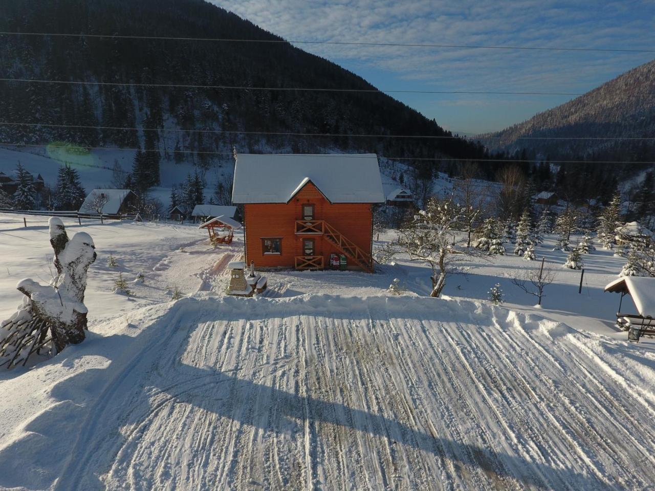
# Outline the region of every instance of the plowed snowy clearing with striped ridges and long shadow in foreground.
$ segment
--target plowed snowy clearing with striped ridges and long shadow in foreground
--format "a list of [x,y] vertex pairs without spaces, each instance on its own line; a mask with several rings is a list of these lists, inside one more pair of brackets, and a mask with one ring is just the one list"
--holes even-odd
[[[21,375],[61,381],[48,410],[0,440],[0,486],[655,482],[655,359],[626,342],[419,297],[182,299],[130,322]],[[28,445],[42,450],[26,463]],[[58,458],[37,462],[48,448]],[[40,474],[28,478],[19,464]]]

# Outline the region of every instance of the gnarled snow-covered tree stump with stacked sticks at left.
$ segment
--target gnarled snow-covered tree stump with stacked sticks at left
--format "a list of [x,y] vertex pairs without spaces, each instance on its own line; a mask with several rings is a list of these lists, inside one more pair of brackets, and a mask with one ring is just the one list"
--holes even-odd
[[11,368],[33,354],[57,354],[86,336],[86,271],[96,261],[92,238],[78,232],[68,239],[61,219],[50,218],[50,245],[56,276],[50,285],[31,279],[16,288],[25,297],[16,312],[0,323],[0,367]]

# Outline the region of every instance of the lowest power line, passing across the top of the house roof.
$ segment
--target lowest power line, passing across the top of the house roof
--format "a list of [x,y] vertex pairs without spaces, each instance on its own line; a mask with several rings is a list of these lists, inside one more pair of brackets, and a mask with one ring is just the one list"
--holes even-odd
[[[0,141],[0,145],[9,145],[14,147],[47,147],[48,145],[37,144],[37,143],[11,143],[9,141]],[[61,148],[66,148],[65,145],[58,145]],[[78,145],[71,145],[78,146]],[[86,147],[84,145],[79,145],[88,150],[119,150],[126,152],[162,152],[159,149],[134,149],[134,148],[119,148],[119,147]],[[233,156],[233,152],[209,152],[209,151],[196,151],[196,150],[166,150],[164,153],[190,153],[194,155],[230,155]],[[259,154],[259,155],[280,155],[280,154]],[[305,153],[288,153],[284,154],[291,157],[302,157],[305,155],[320,156],[320,157],[335,157],[341,154],[329,154],[329,153],[318,153],[318,154],[305,154]],[[464,162],[466,160],[471,162],[521,162],[515,158],[442,158],[442,157],[408,157],[408,156],[385,156],[378,155],[379,158],[384,158],[386,160],[416,160],[423,162]],[[348,155],[348,158],[369,158],[366,155]],[[630,160],[548,160],[551,164],[654,164],[655,162],[644,162],[644,161],[630,161]]]

